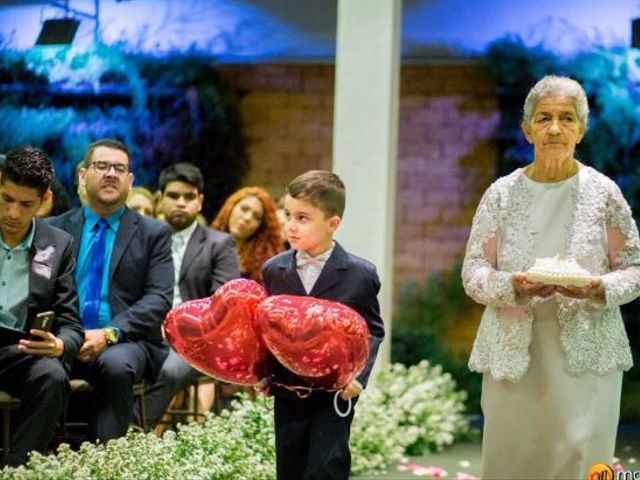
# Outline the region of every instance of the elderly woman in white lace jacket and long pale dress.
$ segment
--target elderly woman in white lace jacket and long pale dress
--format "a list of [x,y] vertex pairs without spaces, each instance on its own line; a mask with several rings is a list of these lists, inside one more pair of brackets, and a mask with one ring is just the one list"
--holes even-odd
[[[469,361],[484,374],[482,478],[586,478],[613,458],[632,366],[619,306],[640,294],[640,243],[619,188],[575,159],[588,115],[577,82],[540,80],[522,120],[534,161],[491,185],[473,220],[462,279],[486,305]],[[588,285],[530,281],[556,254]]]

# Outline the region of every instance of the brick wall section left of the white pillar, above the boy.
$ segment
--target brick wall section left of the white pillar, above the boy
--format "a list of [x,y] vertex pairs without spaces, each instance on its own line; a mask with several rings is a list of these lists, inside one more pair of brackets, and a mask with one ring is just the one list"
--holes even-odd
[[251,170],[245,185],[274,197],[296,175],[331,169],[333,66],[240,65],[222,69],[241,103]]

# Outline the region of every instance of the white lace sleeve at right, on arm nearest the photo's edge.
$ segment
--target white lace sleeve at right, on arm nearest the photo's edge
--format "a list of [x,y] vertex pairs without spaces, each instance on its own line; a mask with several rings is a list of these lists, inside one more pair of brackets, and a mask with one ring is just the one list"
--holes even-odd
[[631,209],[614,185],[607,202],[607,249],[611,272],[602,276],[606,305],[614,307],[640,296],[640,240]]

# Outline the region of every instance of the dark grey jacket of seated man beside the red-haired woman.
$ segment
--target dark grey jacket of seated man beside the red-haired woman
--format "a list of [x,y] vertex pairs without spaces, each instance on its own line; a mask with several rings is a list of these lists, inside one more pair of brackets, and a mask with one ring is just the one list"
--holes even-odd
[[204,298],[224,283],[240,276],[233,236],[196,226],[180,266],[178,286],[183,301]]

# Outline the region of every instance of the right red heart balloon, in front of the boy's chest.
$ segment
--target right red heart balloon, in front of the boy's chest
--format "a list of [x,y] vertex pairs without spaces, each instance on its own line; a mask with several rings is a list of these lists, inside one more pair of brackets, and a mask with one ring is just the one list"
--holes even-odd
[[276,295],[257,313],[256,326],[269,351],[312,387],[343,388],[369,358],[367,323],[341,303]]

